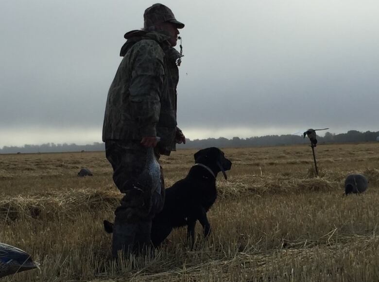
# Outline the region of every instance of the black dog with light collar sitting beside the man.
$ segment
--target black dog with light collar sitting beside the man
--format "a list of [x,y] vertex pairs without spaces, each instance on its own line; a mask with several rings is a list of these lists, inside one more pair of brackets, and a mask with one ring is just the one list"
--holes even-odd
[[[199,150],[194,157],[195,165],[188,175],[166,189],[164,207],[152,224],[151,239],[155,247],[170,235],[172,228],[180,226],[188,226],[187,237],[193,247],[197,220],[204,228],[204,237],[210,234],[207,211],[217,198],[217,173],[221,171],[226,179],[225,170],[232,163],[215,147]],[[104,228],[112,233],[113,224],[104,220]]]

